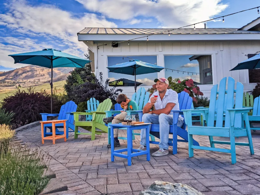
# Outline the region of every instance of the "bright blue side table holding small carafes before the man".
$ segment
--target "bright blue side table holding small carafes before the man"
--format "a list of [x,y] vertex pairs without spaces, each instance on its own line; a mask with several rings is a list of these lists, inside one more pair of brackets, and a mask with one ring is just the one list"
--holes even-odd
[[[150,161],[150,141],[149,141],[149,125],[122,125],[119,124],[110,124],[110,140],[111,140],[111,161],[114,162],[114,156],[127,158],[127,165],[131,166],[131,157],[140,156],[146,154],[146,159]],[[114,129],[126,128],[127,130],[127,148],[114,150]],[[133,149],[132,141],[132,130],[136,129],[146,129],[146,151],[139,151]],[[121,154],[121,152],[126,152],[127,154]],[[135,152],[135,153],[133,153]]]

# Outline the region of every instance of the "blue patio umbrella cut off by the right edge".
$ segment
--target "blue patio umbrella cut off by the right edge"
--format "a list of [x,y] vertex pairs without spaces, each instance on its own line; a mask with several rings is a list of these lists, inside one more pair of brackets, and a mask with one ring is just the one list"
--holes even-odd
[[257,54],[252,58],[246,59],[243,62],[238,63],[237,66],[231,70],[259,69],[259,68],[260,68],[260,54]]

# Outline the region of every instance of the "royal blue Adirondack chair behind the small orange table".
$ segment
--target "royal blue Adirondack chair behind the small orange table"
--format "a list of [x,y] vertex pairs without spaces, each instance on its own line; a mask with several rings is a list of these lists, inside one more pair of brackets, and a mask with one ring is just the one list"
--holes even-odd
[[[60,108],[59,114],[47,114],[47,113],[40,113],[42,117],[42,121],[46,121],[47,117],[58,117],[58,120],[65,120],[66,121],[66,138],[68,139],[68,133],[75,131],[75,126],[73,124],[74,117],[71,112],[76,112],[77,110],[77,104],[73,101],[66,102],[66,104],[62,105]],[[59,123],[55,125],[56,127],[56,135],[57,134],[64,134],[64,131],[59,131],[58,128],[63,128],[63,123]],[[52,135],[52,132],[47,132],[47,128],[53,131],[52,124],[44,124],[44,137],[46,135]],[[69,128],[72,129],[72,131],[69,131]]]

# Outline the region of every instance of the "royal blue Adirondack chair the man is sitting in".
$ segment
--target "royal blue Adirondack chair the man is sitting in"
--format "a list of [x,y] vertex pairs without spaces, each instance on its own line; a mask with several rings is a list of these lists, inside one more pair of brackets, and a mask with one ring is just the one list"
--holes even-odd
[[[186,123],[183,121],[182,127],[177,126],[178,117],[179,115],[183,115],[183,109],[191,109],[192,105],[192,98],[189,96],[188,93],[182,91],[178,93],[178,100],[179,100],[179,107],[180,111],[172,110],[173,112],[173,125],[170,125],[169,134],[173,134],[173,139],[169,139],[168,145],[173,147],[172,153],[177,154],[177,142],[188,142],[188,132],[186,131]],[[139,114],[140,115],[140,114]],[[143,113],[141,113],[143,115]],[[159,125],[152,124],[150,133],[160,139],[159,136]],[[177,136],[180,136],[182,139],[177,139]],[[159,144],[156,141],[150,141],[151,144]],[[198,145],[198,142],[193,139],[193,144]]]

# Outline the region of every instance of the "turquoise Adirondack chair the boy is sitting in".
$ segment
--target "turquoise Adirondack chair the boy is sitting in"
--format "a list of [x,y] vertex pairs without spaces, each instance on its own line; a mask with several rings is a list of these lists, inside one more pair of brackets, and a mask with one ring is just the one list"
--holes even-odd
[[[148,100],[149,100],[149,95],[150,93],[148,91],[145,90],[144,87],[141,87],[136,93],[134,93],[132,95],[132,100],[134,100],[137,104],[138,104],[138,107],[139,107],[139,111],[127,111],[127,114],[128,115],[133,115],[133,114],[139,114],[139,119],[140,119],[140,112],[142,112],[143,110],[143,107],[147,104]],[[120,106],[121,108],[121,106]],[[115,106],[115,111],[107,111],[107,114],[106,114],[106,117],[111,117],[112,114],[119,114],[120,113],[120,109],[118,108],[119,110],[116,110],[116,106]],[[122,128],[122,129],[125,129],[125,128]],[[140,133],[132,133],[133,137],[132,139],[135,140],[135,135],[140,135]],[[155,141],[155,138],[153,135],[150,135],[151,137],[151,140],[152,141]],[[118,137],[118,139],[125,139],[127,140],[126,137]],[[110,126],[108,124],[108,144],[110,144]]]

